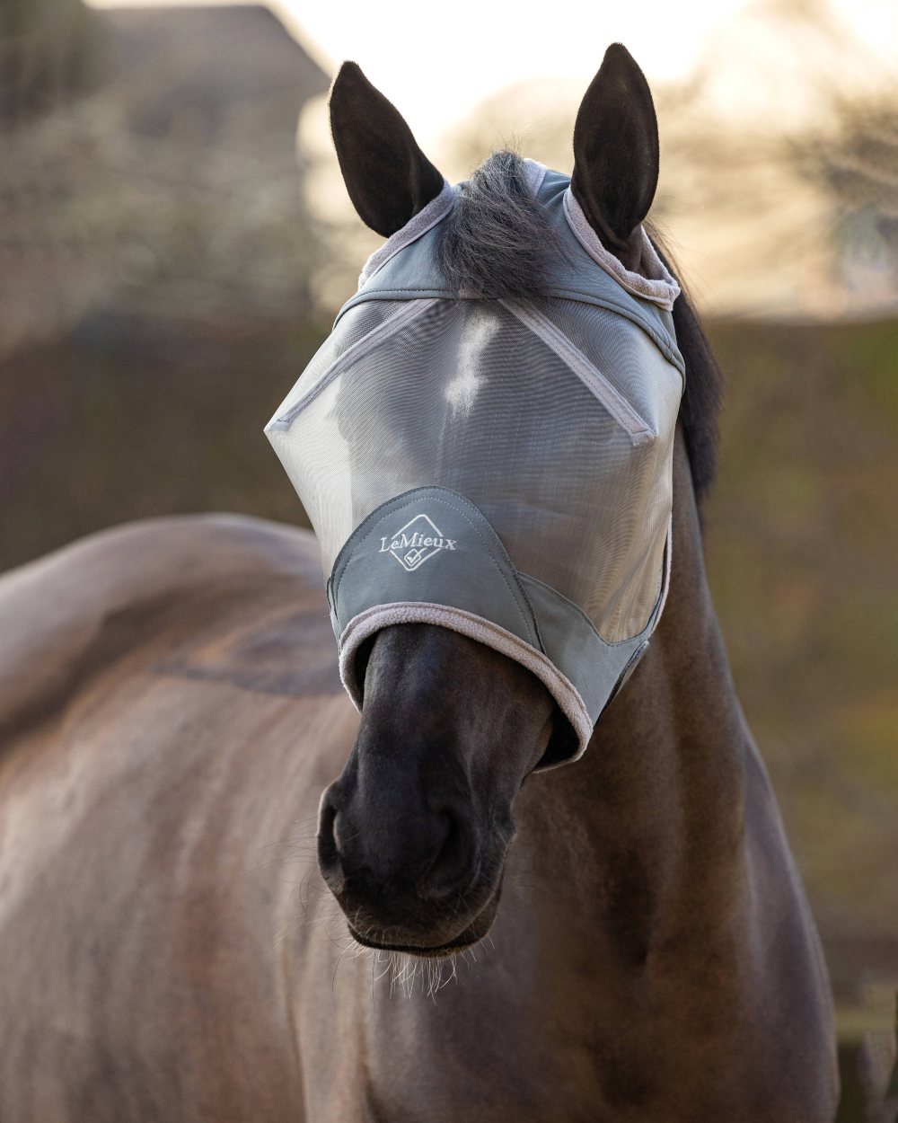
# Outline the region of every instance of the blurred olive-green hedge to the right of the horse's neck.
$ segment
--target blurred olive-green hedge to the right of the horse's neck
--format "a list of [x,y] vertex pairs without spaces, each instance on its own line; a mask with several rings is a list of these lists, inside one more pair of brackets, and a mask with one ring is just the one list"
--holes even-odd
[[708,568],[736,685],[824,931],[898,961],[898,322],[712,334]]

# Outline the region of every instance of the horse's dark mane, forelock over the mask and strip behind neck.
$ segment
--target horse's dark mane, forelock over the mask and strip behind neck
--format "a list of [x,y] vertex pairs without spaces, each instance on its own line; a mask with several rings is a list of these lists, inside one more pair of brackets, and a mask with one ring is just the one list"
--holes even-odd
[[[670,253],[649,234],[665,265],[677,276]],[[462,185],[441,223],[440,266],[450,286],[498,300],[539,296],[551,262],[565,253],[558,231],[528,186],[523,159],[495,152]],[[682,290],[682,284],[680,282]],[[674,303],[674,328],[686,363],[680,421],[696,499],[714,482],[722,378],[698,313],[685,290]]]

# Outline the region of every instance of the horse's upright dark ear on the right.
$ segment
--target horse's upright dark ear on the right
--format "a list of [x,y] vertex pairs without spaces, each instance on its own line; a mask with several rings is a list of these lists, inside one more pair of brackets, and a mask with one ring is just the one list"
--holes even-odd
[[570,189],[606,249],[633,247],[658,186],[658,118],[649,83],[620,43],[605,52],[577,111]]

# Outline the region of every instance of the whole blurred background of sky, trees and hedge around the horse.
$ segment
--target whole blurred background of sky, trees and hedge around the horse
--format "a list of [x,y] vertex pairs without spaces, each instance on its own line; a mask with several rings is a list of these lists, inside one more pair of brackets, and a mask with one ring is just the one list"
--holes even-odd
[[569,171],[624,42],[725,374],[709,577],[826,949],[840,1119],[891,1121],[898,4],[418,7],[0,0],[0,569],[145,515],[303,521],[262,428],[378,244],[330,146],[341,58],[455,181],[500,146]]

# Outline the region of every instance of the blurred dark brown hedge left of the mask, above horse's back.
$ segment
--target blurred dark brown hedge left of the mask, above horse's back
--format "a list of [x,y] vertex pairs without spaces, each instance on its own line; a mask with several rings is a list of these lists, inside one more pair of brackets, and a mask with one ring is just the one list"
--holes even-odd
[[0,365],[0,567],[134,518],[302,521],[262,430],[327,330],[102,313]]

